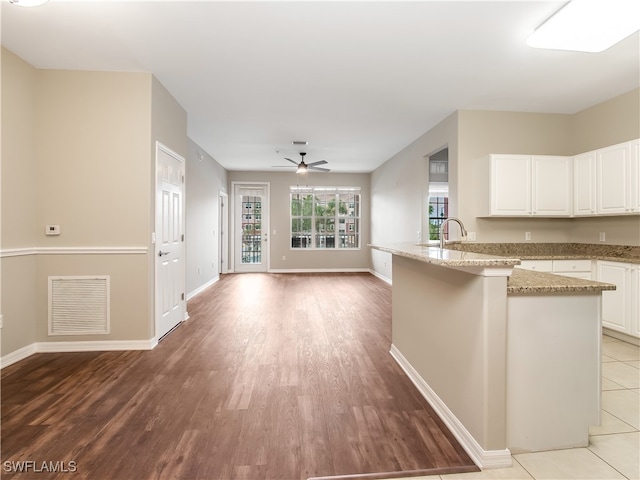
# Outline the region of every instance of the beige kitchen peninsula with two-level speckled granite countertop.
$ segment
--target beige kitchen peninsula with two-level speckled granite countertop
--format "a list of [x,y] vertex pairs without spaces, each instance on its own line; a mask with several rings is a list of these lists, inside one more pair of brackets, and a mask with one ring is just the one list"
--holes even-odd
[[614,286],[514,269],[515,256],[371,247],[393,257],[391,354],[478,466],[587,445]]

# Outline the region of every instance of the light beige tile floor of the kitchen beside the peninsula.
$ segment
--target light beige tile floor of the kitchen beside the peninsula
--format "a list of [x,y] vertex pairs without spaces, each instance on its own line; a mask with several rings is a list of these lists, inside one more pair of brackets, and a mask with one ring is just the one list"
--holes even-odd
[[602,425],[589,446],[513,456],[510,468],[413,477],[453,479],[640,479],[640,347],[602,338]]

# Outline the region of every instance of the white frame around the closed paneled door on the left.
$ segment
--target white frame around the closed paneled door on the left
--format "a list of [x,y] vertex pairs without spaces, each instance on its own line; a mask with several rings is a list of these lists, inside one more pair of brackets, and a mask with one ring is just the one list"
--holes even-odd
[[[155,195],[155,200],[154,200],[154,231],[152,234],[152,243],[153,243],[153,279],[154,279],[154,289],[153,289],[153,326],[154,326],[154,332],[153,332],[153,336],[155,338],[155,341],[158,342],[160,341],[160,338],[158,338],[158,332],[160,331],[160,312],[162,311],[162,308],[158,307],[158,302],[160,299],[160,295],[159,295],[159,278],[158,278],[158,253],[160,250],[160,243],[157,241],[158,235],[157,232],[160,231],[160,212],[161,212],[161,202],[162,202],[162,196],[161,196],[161,192],[160,192],[160,181],[158,179],[158,157],[160,154],[160,151],[162,150],[164,153],[166,153],[167,155],[170,155],[172,157],[174,157],[176,160],[178,160],[179,162],[182,163],[182,184],[181,184],[181,195],[182,195],[182,208],[181,208],[181,213],[180,213],[180,232],[182,235],[182,268],[179,270],[179,274],[180,274],[180,284],[182,287],[182,292],[183,292],[183,296],[182,296],[182,300],[180,302],[180,309],[182,312],[181,315],[181,320],[180,322],[184,322],[185,320],[189,319],[189,314],[187,313],[187,300],[186,300],[186,279],[187,279],[187,272],[186,272],[186,264],[185,264],[185,256],[186,256],[186,248],[185,248],[185,242],[184,242],[184,234],[185,234],[185,212],[186,212],[186,202],[185,202],[185,175],[186,175],[186,161],[184,159],[184,157],[182,155],[180,155],[179,153],[174,152],[173,150],[171,150],[169,147],[167,147],[166,145],[160,143],[159,141],[156,141],[156,149],[155,149],[155,162],[154,162],[154,179],[155,179],[155,188],[154,188],[154,195]],[[177,325],[176,325],[177,326]],[[168,332],[167,332],[168,333]]]

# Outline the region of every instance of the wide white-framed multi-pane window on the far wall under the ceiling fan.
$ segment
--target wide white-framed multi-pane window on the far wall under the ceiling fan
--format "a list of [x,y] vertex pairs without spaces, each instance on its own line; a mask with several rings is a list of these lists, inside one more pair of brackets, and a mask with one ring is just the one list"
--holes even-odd
[[291,187],[291,248],[360,248],[359,187]]

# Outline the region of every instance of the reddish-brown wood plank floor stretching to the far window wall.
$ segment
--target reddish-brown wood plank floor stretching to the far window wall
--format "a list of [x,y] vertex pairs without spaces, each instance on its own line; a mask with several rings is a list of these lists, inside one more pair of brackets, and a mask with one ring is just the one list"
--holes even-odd
[[152,351],[5,368],[2,461],[75,462],[43,480],[477,470],[389,355],[391,288],[374,276],[226,275],[188,309]]

